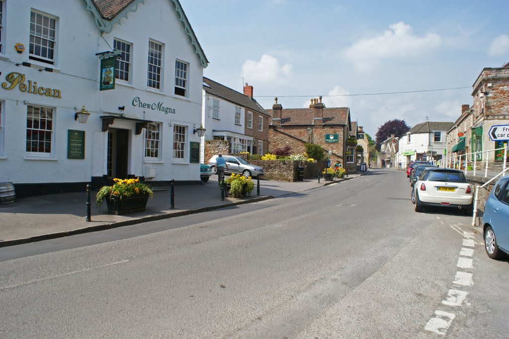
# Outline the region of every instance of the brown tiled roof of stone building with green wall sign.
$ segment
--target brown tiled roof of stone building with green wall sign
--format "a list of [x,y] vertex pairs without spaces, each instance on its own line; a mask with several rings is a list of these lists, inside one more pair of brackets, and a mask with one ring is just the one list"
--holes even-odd
[[[272,109],[266,111],[273,115]],[[324,108],[323,125],[348,125],[349,113],[348,107]],[[314,108],[286,108],[281,112],[281,126],[313,125],[314,116]]]

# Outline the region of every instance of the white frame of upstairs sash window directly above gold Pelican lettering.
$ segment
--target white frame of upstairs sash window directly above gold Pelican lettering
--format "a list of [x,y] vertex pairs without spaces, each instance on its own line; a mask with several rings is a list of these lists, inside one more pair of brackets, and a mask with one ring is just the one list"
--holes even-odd
[[[32,14],[35,15],[35,22],[32,22]],[[42,25],[37,23],[38,16],[42,17]],[[45,19],[47,18],[48,25],[45,25]],[[51,21],[53,21],[54,27],[51,28]],[[34,30],[32,30],[32,27]],[[29,59],[34,61],[39,61],[43,64],[49,64],[49,65],[55,65],[56,64],[56,52],[57,52],[57,44],[56,41],[58,40],[58,17],[43,13],[37,10],[32,9],[30,11],[30,25],[29,25]],[[37,32],[38,28],[41,30],[41,32]],[[53,30],[53,37],[50,37],[51,30]],[[39,44],[36,44],[36,40],[41,40]],[[34,40],[34,42],[32,42]],[[44,40],[44,41],[42,41]],[[46,49],[49,47],[49,43],[52,43],[52,50],[53,50],[53,56],[49,58],[47,56],[42,55],[42,48],[44,47],[44,43],[46,43]],[[39,46],[40,54],[38,55],[35,53],[36,46]]]

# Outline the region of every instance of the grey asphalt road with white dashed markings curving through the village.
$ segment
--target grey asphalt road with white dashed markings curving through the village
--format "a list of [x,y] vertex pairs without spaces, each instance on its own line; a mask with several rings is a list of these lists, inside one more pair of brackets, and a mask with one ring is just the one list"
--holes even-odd
[[403,172],[0,249],[0,337],[507,337],[508,261]]

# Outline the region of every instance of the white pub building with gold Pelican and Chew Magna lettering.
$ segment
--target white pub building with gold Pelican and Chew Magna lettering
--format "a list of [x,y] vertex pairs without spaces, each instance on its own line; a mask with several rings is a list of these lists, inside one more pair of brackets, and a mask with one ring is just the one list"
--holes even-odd
[[115,177],[200,180],[208,60],[178,0],[0,11],[0,182],[22,197]]

